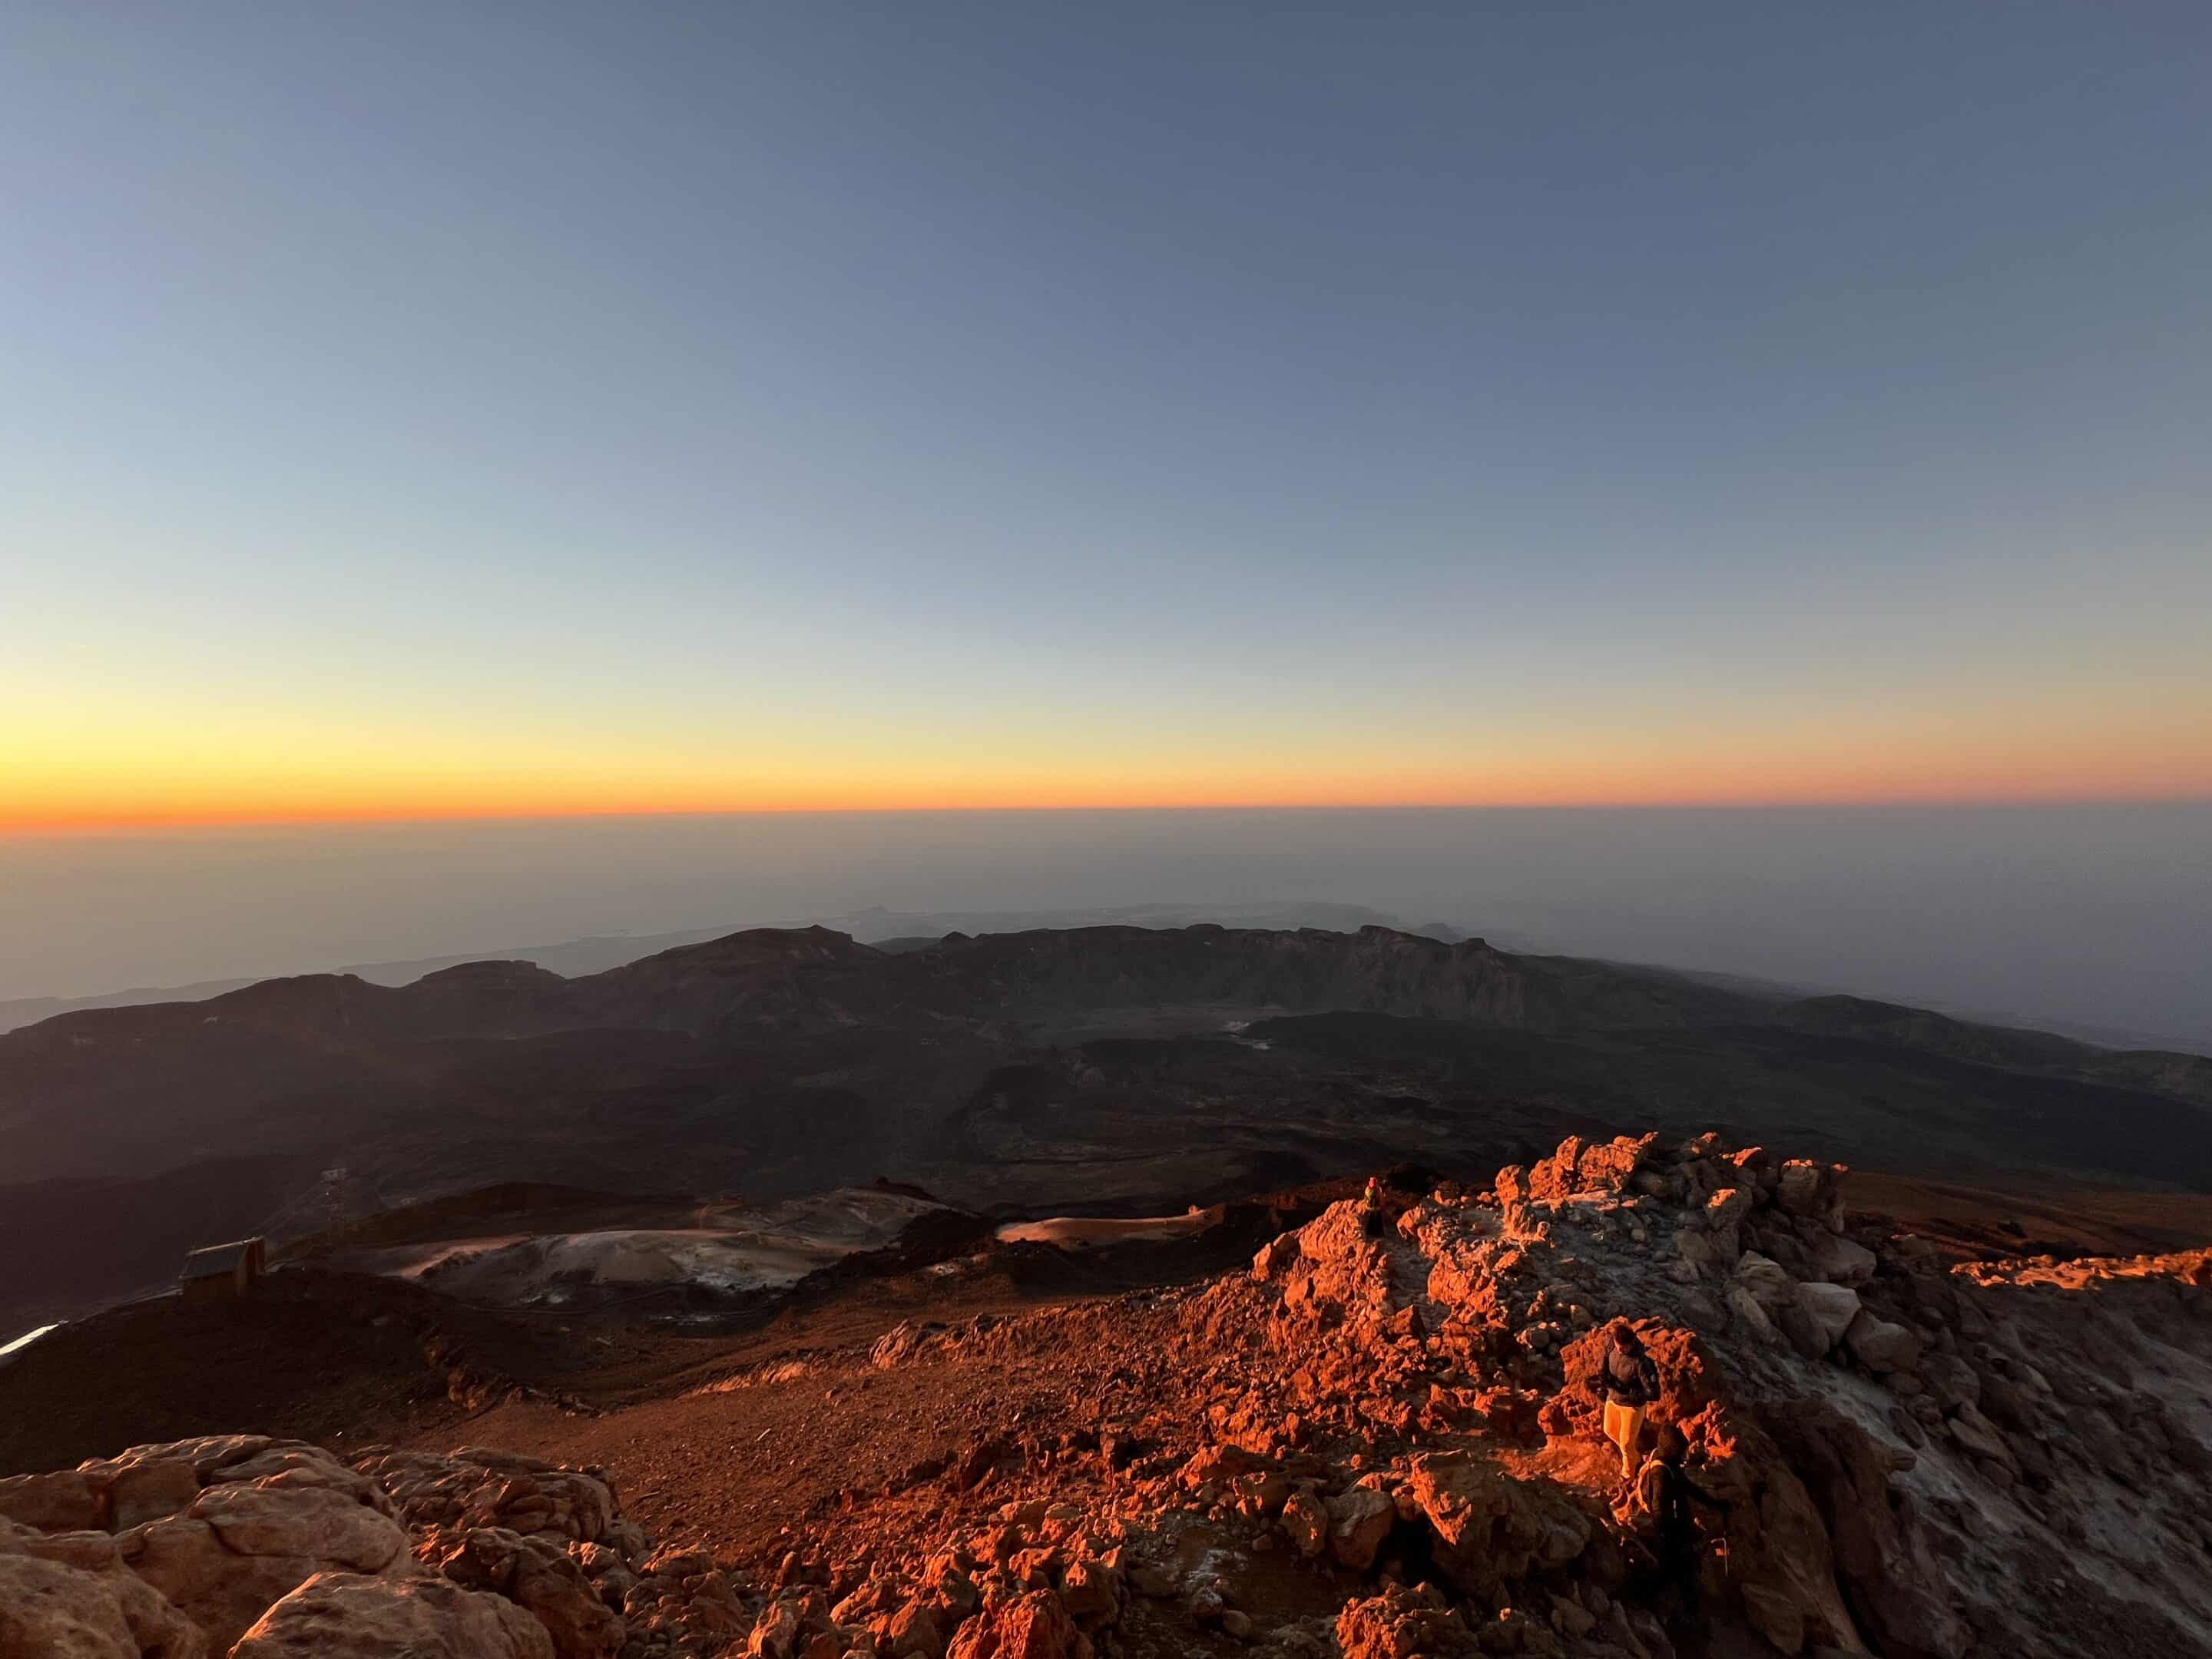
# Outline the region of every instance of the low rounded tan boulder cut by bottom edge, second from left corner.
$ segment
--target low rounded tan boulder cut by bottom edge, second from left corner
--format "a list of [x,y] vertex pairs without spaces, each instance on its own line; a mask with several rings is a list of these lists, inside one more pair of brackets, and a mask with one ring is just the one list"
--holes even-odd
[[230,1659],[553,1659],[538,1619],[434,1577],[319,1573],[276,1601]]

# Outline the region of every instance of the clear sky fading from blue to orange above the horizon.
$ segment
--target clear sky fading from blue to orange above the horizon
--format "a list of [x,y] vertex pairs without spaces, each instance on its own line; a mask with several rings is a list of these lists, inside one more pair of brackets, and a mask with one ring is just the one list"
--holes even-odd
[[2197,4],[0,18],[0,827],[2212,796]]

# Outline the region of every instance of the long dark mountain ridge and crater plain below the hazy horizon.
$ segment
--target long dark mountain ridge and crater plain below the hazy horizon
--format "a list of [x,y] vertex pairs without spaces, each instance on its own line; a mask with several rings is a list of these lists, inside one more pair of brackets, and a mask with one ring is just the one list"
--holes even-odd
[[1723,1121],[1905,1175],[2212,1190],[2208,1104],[2194,1055],[1383,927],[905,951],[750,929],[580,978],[303,975],[0,1033],[0,1248],[7,1214],[51,1219],[42,1188],[86,1177],[126,1183],[124,1256],[161,1241],[133,1276],[4,1285],[0,1316],[157,1283],[217,1214],[312,1230],[323,1166],[367,1208],[489,1181],[781,1197],[894,1175],[980,1210],[1130,1212],[1400,1157],[1495,1166],[1593,1121]]

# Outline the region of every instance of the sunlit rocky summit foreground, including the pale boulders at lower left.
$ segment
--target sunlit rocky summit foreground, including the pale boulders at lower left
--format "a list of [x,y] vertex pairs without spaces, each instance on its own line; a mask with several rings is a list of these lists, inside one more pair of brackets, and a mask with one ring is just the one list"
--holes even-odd
[[[1210,1281],[900,1323],[801,1369],[914,1383],[942,1455],[750,1544],[655,1544],[611,1469],[482,1447],[217,1436],[15,1475],[0,1652],[2212,1652],[2212,1252],[1947,1265],[1840,1177],[1568,1137]],[[1619,1321],[1710,1500],[1688,1533],[1601,1438]]]

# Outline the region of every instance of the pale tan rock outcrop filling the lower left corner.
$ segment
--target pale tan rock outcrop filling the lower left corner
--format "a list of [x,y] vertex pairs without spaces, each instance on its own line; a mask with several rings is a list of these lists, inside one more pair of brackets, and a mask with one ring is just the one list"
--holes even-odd
[[641,1659],[719,1650],[754,1619],[712,1562],[655,1555],[597,1473],[480,1447],[347,1467],[210,1436],[0,1495],[4,1659]]

